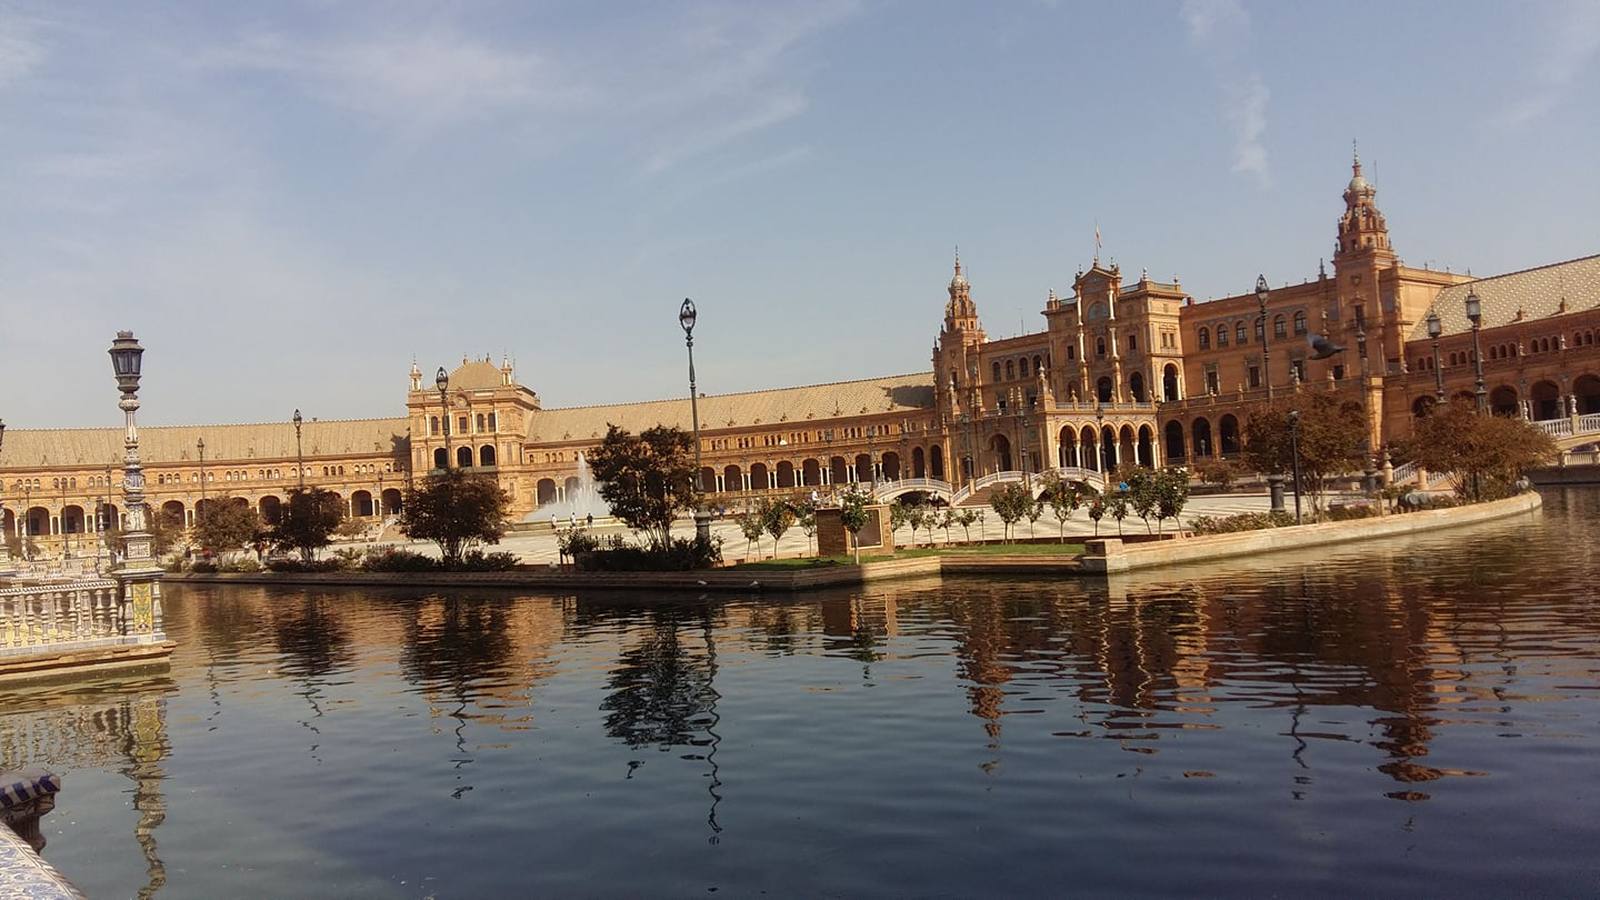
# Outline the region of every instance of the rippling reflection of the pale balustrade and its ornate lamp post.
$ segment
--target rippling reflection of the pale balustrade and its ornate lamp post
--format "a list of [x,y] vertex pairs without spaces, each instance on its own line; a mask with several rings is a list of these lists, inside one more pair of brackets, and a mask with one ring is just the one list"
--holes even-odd
[[0,770],[98,769],[131,781],[133,839],[146,871],[138,890],[141,900],[155,897],[166,884],[155,833],[166,820],[162,762],[171,753],[166,695],[173,690],[176,685],[165,674],[102,681],[50,695],[6,695],[6,714],[0,716]]

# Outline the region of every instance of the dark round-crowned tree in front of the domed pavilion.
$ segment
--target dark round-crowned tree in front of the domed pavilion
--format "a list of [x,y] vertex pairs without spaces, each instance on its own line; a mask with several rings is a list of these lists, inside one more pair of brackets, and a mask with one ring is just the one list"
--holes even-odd
[[458,567],[478,544],[498,544],[509,527],[510,495],[494,476],[443,469],[406,492],[400,528],[411,538],[434,541],[445,567]]

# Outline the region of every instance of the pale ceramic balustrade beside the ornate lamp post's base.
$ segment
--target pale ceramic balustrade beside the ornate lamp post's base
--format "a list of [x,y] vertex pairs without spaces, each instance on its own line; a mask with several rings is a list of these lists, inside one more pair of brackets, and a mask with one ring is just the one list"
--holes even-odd
[[0,655],[120,644],[126,625],[109,578],[0,591]]

